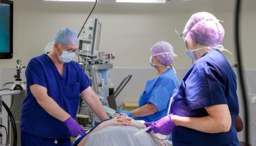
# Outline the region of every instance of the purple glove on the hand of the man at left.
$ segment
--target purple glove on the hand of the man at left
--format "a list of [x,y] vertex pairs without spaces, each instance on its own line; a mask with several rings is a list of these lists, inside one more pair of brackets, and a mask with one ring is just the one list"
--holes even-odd
[[67,120],[64,121],[67,128],[69,128],[69,131],[71,132],[71,135],[73,137],[77,137],[77,135],[85,135],[86,132],[82,129],[82,127],[77,123],[76,120],[74,120],[71,116],[67,118]]

